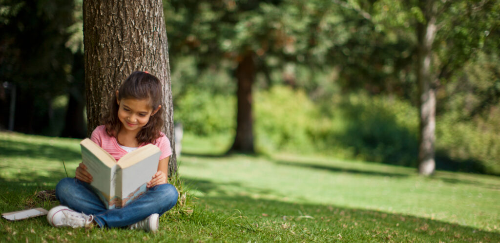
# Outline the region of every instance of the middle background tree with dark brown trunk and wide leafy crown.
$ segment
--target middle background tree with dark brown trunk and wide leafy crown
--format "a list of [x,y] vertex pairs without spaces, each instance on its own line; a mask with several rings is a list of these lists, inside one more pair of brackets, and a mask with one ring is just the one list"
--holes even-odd
[[254,152],[256,76],[264,77],[265,86],[317,86],[297,83],[294,69],[327,69],[328,49],[338,44],[331,35],[342,30],[335,4],[323,0],[165,1],[165,12],[172,16],[166,21],[173,56],[192,55],[199,69],[228,69],[236,79],[236,128],[229,151],[237,152]]

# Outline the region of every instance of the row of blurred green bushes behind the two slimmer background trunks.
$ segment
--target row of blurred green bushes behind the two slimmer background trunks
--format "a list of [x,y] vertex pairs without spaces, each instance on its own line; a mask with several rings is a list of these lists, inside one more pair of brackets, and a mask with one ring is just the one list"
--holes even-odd
[[[176,100],[175,120],[199,136],[234,134],[235,102],[230,95],[188,89]],[[253,109],[258,152],[417,165],[418,110],[408,101],[356,93],[313,103],[300,89],[274,86],[254,93]],[[436,117],[437,168],[500,174],[500,110],[473,120],[460,117]]]

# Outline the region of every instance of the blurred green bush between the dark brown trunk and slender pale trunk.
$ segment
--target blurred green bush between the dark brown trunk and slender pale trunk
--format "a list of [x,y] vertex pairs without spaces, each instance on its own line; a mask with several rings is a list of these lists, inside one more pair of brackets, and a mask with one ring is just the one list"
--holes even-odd
[[417,111],[407,102],[350,94],[317,105],[301,90],[285,86],[255,96],[260,151],[322,153],[416,166]]

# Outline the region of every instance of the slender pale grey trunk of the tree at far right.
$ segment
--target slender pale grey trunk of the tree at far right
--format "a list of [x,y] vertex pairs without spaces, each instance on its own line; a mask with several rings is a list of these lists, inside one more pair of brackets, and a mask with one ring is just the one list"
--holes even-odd
[[418,148],[418,172],[428,176],[435,170],[435,88],[432,83],[431,58],[432,42],[436,34],[436,18],[434,1],[420,1],[420,9],[425,16],[425,22],[417,23],[417,82],[419,93],[420,137]]

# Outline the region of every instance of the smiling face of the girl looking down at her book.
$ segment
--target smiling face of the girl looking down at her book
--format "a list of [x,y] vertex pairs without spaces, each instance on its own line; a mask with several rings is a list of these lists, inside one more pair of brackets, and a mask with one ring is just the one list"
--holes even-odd
[[139,131],[149,121],[153,109],[148,99],[121,99],[118,102],[118,119],[123,128],[129,131]]

